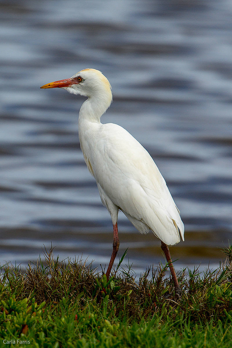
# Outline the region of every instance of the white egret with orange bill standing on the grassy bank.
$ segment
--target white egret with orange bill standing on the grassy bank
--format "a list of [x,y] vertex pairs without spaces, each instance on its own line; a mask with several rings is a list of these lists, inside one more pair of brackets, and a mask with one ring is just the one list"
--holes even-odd
[[175,291],[181,294],[168,245],[184,240],[184,224],[159,169],[149,153],[124,128],[102,124],[100,118],[112,102],[111,85],[98,70],[84,69],[66,80],[40,88],[64,88],[87,96],[79,112],[79,139],[90,173],[95,177],[103,205],[113,223],[113,252],[107,280],[119,248],[118,211],[141,233],[152,230],[161,240]]

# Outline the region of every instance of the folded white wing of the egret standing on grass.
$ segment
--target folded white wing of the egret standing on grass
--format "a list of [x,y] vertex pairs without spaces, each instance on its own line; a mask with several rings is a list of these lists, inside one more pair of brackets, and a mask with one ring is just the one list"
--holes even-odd
[[149,226],[163,242],[177,243],[178,228],[183,238],[178,209],[159,169],[142,145],[114,124],[103,124],[95,141],[90,163],[107,197],[123,212]]

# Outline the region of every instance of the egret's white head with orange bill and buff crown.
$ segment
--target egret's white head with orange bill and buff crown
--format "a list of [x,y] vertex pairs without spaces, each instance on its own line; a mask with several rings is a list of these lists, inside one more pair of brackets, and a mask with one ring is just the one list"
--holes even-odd
[[84,69],[69,79],[50,82],[40,88],[64,88],[69,93],[100,98],[104,95],[112,101],[111,85],[101,71]]

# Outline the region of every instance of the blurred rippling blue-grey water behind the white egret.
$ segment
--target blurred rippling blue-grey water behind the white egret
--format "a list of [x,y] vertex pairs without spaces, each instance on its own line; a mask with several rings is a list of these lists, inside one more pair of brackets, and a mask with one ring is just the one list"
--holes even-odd
[[[60,259],[109,262],[110,215],[78,139],[85,98],[39,89],[95,68],[113,91],[102,122],[150,152],[181,211],[176,268],[217,267],[232,232],[232,1],[9,0],[0,18],[1,265],[51,242]],[[165,263],[152,233],[122,213],[118,226],[136,274]]]

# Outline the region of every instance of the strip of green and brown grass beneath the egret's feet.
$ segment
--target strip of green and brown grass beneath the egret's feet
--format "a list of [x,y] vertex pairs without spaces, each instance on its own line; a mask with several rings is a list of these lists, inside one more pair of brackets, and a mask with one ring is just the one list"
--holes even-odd
[[226,262],[216,271],[178,274],[181,298],[165,278],[167,265],[148,269],[137,283],[130,267],[107,283],[91,264],[53,259],[52,249],[45,251],[46,264],[26,271],[6,266],[0,347],[229,348],[232,248],[224,252]]

